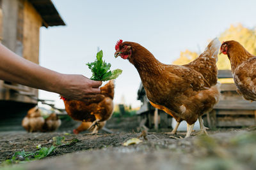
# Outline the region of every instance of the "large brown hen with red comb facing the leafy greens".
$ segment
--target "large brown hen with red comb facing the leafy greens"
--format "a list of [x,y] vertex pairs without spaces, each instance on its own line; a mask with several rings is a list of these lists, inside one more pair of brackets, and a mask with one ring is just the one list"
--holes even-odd
[[172,133],[177,131],[182,120],[186,120],[188,137],[198,118],[200,133],[206,133],[202,115],[212,110],[220,97],[216,85],[216,61],[220,45],[217,38],[213,39],[204,53],[183,66],[163,64],[138,43],[123,43],[122,40],[116,43],[115,57],[120,55],[136,67],[152,106],[177,120]]

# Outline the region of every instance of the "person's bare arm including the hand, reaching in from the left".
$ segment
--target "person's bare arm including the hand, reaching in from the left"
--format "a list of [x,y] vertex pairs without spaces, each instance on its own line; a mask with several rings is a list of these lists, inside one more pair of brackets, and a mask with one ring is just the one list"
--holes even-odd
[[99,94],[101,81],[79,74],[61,74],[19,57],[0,44],[0,79],[83,100]]

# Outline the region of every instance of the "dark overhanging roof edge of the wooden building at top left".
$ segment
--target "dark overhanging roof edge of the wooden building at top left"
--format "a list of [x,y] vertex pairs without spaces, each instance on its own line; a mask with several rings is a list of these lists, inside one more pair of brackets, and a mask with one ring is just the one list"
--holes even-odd
[[51,0],[28,0],[43,19],[43,26],[66,25]]

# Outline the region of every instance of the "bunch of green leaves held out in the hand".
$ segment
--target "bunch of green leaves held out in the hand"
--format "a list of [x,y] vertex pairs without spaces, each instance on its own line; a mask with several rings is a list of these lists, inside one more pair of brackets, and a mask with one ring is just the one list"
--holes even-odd
[[122,69],[109,71],[111,64],[107,64],[104,60],[102,60],[102,57],[103,52],[100,50],[96,55],[97,59],[94,62],[88,62],[86,64],[92,71],[91,80],[108,81],[117,78],[122,73]]

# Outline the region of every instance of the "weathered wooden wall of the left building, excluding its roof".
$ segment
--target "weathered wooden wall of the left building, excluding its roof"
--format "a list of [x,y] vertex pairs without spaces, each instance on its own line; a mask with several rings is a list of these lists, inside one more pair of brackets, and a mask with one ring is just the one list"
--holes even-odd
[[[42,18],[28,0],[0,0],[2,1],[3,16],[3,45],[17,53],[20,57],[39,63],[39,39]],[[1,38],[1,29],[0,29]],[[0,101],[19,101],[23,103],[37,103],[35,99],[22,96],[17,92],[24,92],[38,97],[38,90],[23,85],[0,80]]]

